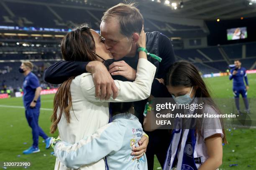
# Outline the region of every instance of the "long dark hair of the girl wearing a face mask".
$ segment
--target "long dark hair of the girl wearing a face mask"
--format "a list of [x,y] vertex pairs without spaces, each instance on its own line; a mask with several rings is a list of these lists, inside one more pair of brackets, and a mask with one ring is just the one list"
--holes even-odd
[[[218,114],[221,114],[215,102],[212,100],[210,96],[210,92],[207,89],[204,80],[202,79],[199,70],[195,67],[195,65],[191,64],[188,61],[178,61],[175,62],[169,69],[169,72],[166,74],[164,79],[164,83],[166,86],[184,86],[184,87],[197,87],[195,92],[195,97],[199,98],[199,102],[207,103],[210,107],[212,107]],[[199,112],[200,113],[200,110]],[[202,113],[201,113],[202,114]],[[199,119],[197,119],[199,120]],[[223,120],[220,118],[220,123],[223,131],[223,142],[227,143],[225,130],[223,126]],[[201,124],[201,123],[198,123]],[[201,128],[197,127],[196,131],[201,135]]]

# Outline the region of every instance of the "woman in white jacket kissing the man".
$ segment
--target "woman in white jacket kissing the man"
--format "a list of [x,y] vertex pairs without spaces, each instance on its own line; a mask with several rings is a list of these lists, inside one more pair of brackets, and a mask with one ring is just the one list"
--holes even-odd
[[[139,47],[146,47],[146,35],[142,30]],[[61,42],[61,53],[67,61],[101,61],[112,58],[105,48],[104,40],[94,30],[84,26],[69,32]],[[100,100],[95,97],[95,85],[91,73],[84,73],[69,78],[59,87],[54,97],[54,113],[51,117],[51,133],[58,127],[61,140],[67,143],[77,143],[86,136],[92,135],[97,129],[109,121],[108,102],[131,102],[146,99],[150,95],[151,84],[156,67],[147,61],[146,53],[139,52],[139,62],[134,82],[115,80],[118,87],[118,97]],[[96,154],[96,153],[95,153]],[[56,159],[55,169],[67,169]],[[90,165],[84,165],[82,170],[105,170],[102,159]]]

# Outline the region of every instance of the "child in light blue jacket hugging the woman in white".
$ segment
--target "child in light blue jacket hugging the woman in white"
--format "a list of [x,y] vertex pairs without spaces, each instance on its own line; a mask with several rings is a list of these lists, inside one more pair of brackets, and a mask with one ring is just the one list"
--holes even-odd
[[97,162],[106,156],[109,170],[147,170],[146,155],[135,160],[131,150],[138,147],[143,129],[138,118],[130,113],[131,102],[111,103],[113,121],[94,134],[70,144],[56,140],[54,154],[69,168]]

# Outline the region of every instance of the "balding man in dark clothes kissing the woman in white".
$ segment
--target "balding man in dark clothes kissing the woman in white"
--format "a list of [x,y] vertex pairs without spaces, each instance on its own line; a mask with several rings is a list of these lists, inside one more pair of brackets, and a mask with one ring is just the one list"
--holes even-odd
[[[103,40],[105,40],[105,47],[110,50],[114,60],[109,65],[109,73],[113,78],[118,80],[135,80],[136,67],[138,64],[137,41],[139,33],[143,28],[143,17],[134,4],[120,3],[108,9],[100,24],[100,31]],[[156,59],[148,57],[148,60],[157,67],[156,77],[161,79],[165,77],[166,72],[172,63],[175,62],[172,44],[168,37],[162,35],[160,32],[146,33],[146,49],[149,53],[153,53],[162,58],[161,62]],[[116,97],[117,90],[110,74],[106,73],[106,67],[98,61],[92,62],[57,62],[51,65],[45,72],[44,79],[47,82],[59,84],[67,80],[69,77],[77,76],[83,72],[91,72],[94,77],[96,85],[96,96],[101,99],[108,99],[113,93]],[[124,78],[125,77],[125,78]],[[112,83],[108,83],[112,82]],[[155,97],[167,97],[158,93],[159,87],[164,87],[158,80],[154,80],[151,92],[154,92]],[[165,87],[164,87],[165,88]],[[162,93],[163,94],[163,93]],[[166,90],[164,94],[169,94]],[[158,95],[158,96],[156,96]],[[135,114],[143,124],[143,111],[147,100],[138,101],[134,104]],[[152,136],[151,136],[152,134]],[[156,130],[148,134],[149,144],[147,150],[148,169],[153,169],[154,165],[154,148],[157,148],[159,155],[164,155],[159,158],[161,165],[164,164],[165,152],[169,146],[169,135],[167,130]],[[157,144],[151,143],[153,134],[157,135]],[[163,138],[164,137],[164,138]],[[151,141],[150,141],[151,140]],[[161,143],[160,143],[161,142]],[[152,144],[152,146],[151,146]],[[152,150],[152,154],[148,151]]]

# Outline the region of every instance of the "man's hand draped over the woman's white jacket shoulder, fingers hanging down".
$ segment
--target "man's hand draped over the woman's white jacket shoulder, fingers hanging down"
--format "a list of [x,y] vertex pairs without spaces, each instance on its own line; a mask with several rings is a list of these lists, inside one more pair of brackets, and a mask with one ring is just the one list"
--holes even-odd
[[86,70],[92,73],[96,97],[100,98],[100,100],[108,100],[112,94],[114,99],[117,97],[118,88],[102,62],[89,62]]

